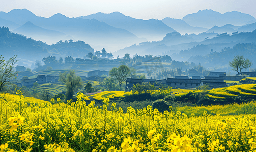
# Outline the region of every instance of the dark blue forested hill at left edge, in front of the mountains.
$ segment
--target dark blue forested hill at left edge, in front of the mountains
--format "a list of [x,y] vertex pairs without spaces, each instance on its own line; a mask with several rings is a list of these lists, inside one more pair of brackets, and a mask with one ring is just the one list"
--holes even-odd
[[94,49],[83,41],[60,41],[47,45],[41,41],[35,41],[18,33],[13,33],[8,27],[0,27],[1,55],[9,58],[18,55],[19,58],[43,58],[48,55],[83,57]]

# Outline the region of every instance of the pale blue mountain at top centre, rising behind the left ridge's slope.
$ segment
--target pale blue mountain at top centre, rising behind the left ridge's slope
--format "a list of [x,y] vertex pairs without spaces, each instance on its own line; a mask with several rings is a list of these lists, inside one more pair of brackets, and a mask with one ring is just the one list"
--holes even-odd
[[113,27],[126,29],[138,37],[145,37],[149,41],[161,40],[166,33],[175,31],[172,27],[165,25],[160,20],[135,19],[130,16],[125,16],[120,12],[112,12],[109,14],[96,13],[79,18],[96,19]]

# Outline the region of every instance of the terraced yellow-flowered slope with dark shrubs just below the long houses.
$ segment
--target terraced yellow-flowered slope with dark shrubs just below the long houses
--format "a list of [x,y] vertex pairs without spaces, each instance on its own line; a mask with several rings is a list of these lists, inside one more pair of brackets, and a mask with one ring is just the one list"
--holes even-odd
[[[110,100],[124,100],[131,102],[129,96],[145,96],[148,92],[137,92],[137,91],[104,91],[98,94],[89,96],[90,100],[101,100],[102,97],[109,98]],[[172,90],[152,90],[151,97],[147,99],[162,98],[161,94],[173,95],[174,101],[192,102],[196,103],[200,98],[204,98],[204,104],[225,104],[233,102],[243,102],[256,99],[256,85],[236,85],[226,88],[212,89],[208,91],[203,90],[183,90],[183,89],[172,89]],[[204,94],[204,95],[202,95]],[[159,96],[160,95],[160,96]],[[139,100],[139,98],[134,98]],[[133,100],[133,101],[134,101]],[[145,100],[145,98],[143,99]],[[203,101],[202,101],[203,102]]]

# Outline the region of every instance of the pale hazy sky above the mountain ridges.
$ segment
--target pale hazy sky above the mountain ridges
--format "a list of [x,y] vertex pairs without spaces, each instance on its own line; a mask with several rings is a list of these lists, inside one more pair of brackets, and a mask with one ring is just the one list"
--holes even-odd
[[0,11],[27,9],[37,16],[61,13],[68,17],[97,12],[121,12],[138,19],[182,19],[186,14],[211,9],[220,13],[239,11],[256,18],[255,0],[1,0]]

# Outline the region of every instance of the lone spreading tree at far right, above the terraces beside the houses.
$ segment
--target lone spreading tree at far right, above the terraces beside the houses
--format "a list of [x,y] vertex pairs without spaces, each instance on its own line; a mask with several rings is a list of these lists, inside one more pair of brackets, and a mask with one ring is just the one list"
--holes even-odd
[[252,62],[249,59],[244,58],[242,55],[237,55],[233,61],[230,61],[229,65],[233,67],[233,70],[237,71],[239,74],[243,68],[247,69],[250,67]]

